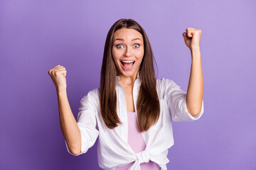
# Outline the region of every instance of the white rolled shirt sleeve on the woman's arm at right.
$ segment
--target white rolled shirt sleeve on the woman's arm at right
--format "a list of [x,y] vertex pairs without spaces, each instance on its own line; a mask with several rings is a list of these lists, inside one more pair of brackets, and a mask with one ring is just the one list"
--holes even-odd
[[186,107],[186,92],[181,90],[173,80],[164,79],[165,81],[165,94],[169,112],[171,113],[171,120],[175,122],[189,122],[198,120],[203,114],[203,101],[201,106],[201,112],[192,116],[188,113]]

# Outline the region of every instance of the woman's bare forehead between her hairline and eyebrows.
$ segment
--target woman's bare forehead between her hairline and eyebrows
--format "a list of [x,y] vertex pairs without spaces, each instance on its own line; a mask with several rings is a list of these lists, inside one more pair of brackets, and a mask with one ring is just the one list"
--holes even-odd
[[134,38],[139,38],[143,41],[143,36],[139,31],[134,30],[132,28],[121,28],[114,32],[114,39],[124,39],[124,40],[132,40]]

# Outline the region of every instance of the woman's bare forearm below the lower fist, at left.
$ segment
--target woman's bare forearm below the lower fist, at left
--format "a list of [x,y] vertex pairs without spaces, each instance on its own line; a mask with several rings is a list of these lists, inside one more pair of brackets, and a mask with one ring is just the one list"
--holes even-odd
[[70,104],[68,103],[67,91],[57,89],[57,96],[60,128],[63,133],[63,137],[67,142],[70,152],[73,154],[79,154],[81,151],[81,135],[78,124],[71,111]]

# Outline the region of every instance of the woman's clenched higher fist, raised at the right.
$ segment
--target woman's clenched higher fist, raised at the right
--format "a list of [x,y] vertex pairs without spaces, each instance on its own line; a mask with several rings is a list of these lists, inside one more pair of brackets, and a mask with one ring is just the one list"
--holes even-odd
[[186,32],[182,33],[189,50],[200,50],[201,33],[202,30],[195,28],[186,28]]

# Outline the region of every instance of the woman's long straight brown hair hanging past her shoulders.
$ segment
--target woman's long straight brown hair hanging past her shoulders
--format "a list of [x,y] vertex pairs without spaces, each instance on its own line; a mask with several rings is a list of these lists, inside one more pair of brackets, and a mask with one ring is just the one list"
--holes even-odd
[[107,33],[105,50],[100,74],[100,112],[107,128],[115,128],[122,124],[117,115],[117,66],[112,57],[114,32],[121,28],[139,31],[144,39],[144,57],[140,66],[141,85],[137,100],[137,121],[139,131],[149,130],[159,119],[160,105],[156,91],[156,75],[154,72],[154,56],[146,32],[132,19],[119,19]]

